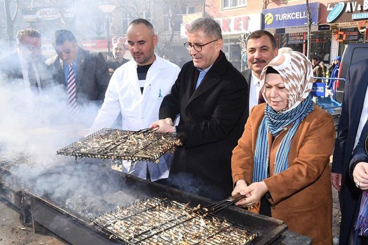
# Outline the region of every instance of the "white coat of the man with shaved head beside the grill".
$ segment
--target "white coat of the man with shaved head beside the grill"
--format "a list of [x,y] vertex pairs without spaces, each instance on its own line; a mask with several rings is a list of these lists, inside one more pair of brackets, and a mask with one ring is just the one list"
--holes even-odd
[[[142,94],[138,83],[137,63],[134,60],[116,69],[89,134],[104,127],[111,127],[120,112],[122,129],[137,131],[149,127],[158,120],[162,99],[170,93],[179,72],[180,68],[177,65],[156,55],[156,60],[148,70]],[[123,172],[146,179],[147,164],[152,181],[169,176],[171,158],[168,154],[159,158],[158,164],[152,162],[131,164],[123,161]]]

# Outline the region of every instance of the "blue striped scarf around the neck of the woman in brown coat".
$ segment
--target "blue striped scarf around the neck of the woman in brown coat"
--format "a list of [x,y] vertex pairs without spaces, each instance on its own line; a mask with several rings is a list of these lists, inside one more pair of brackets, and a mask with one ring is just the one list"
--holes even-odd
[[260,182],[267,178],[267,166],[269,162],[267,132],[270,132],[273,137],[276,137],[281,131],[285,130],[287,126],[291,125],[276,152],[275,174],[277,174],[288,169],[288,155],[292,137],[298,129],[299,124],[313,110],[314,102],[311,96],[308,96],[295,108],[283,113],[277,113],[271,106],[268,104],[266,105],[264,117],[258,129],[254,152],[253,183]]

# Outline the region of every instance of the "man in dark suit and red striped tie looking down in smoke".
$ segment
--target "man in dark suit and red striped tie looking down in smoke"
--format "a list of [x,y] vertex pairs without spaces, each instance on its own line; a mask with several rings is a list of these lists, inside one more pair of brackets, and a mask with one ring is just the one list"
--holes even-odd
[[77,39],[69,30],[57,30],[52,39],[55,56],[46,60],[53,70],[54,80],[65,86],[68,94],[68,78],[72,73],[75,79],[77,103],[105,98],[110,79],[102,53],[91,52],[78,46]]

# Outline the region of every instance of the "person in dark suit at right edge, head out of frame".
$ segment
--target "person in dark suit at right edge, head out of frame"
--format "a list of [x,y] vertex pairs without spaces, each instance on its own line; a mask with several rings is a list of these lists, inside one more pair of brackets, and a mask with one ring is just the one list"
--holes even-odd
[[340,191],[341,225],[340,244],[348,244],[354,229],[354,213],[360,190],[349,178],[349,162],[368,118],[368,59],[352,64],[346,74],[342,112],[335,142],[331,179]]

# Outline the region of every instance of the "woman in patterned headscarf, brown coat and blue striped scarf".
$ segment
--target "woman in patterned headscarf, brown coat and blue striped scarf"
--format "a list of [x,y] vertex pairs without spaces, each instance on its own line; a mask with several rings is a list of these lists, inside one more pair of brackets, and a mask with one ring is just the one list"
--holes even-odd
[[310,94],[312,63],[302,53],[279,54],[261,73],[266,103],[253,107],[233,150],[237,205],[283,220],[314,244],[332,244],[329,158],[332,117]]

